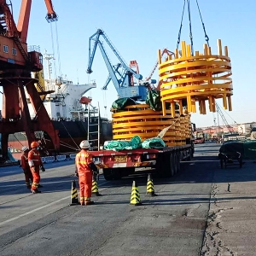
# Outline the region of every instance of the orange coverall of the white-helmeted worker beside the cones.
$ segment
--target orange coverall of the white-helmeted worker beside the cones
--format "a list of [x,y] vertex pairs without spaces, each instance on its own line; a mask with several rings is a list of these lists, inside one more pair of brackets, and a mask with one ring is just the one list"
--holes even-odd
[[92,170],[89,165],[92,163],[92,155],[86,149],[82,149],[75,159],[75,165],[79,174],[80,203],[90,201],[92,187]]

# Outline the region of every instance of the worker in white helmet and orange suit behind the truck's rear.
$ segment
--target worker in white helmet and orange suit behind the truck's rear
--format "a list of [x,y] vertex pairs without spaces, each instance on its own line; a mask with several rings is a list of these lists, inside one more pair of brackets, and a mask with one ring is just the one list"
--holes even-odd
[[93,205],[94,201],[90,201],[92,174],[97,172],[97,167],[92,160],[92,155],[88,152],[90,143],[82,141],[79,146],[81,151],[76,155],[75,165],[76,174],[79,177],[80,204],[81,206]]

